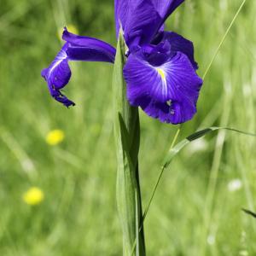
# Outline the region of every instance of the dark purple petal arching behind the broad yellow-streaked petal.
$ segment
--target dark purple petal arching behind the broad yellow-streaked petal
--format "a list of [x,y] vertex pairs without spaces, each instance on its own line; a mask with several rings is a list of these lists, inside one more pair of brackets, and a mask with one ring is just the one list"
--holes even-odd
[[160,32],[158,36],[154,38],[152,44],[160,44],[160,42],[165,42],[166,40],[170,43],[172,51],[180,51],[187,55],[195,70],[198,69],[194,57],[194,45],[191,41],[183,38],[176,32]]

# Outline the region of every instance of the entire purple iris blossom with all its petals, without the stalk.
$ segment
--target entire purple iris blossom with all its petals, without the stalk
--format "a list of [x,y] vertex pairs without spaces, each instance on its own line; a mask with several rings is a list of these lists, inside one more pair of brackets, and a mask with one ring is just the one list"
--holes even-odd
[[[196,74],[192,42],[164,23],[184,0],[115,0],[116,36],[123,32],[128,47],[124,77],[127,99],[161,122],[179,124],[192,119],[202,79]],[[61,93],[71,71],[68,61],[113,63],[115,49],[96,38],[74,35],[64,29],[63,45],[55,60],[44,69],[51,96],[69,107],[74,103]]]

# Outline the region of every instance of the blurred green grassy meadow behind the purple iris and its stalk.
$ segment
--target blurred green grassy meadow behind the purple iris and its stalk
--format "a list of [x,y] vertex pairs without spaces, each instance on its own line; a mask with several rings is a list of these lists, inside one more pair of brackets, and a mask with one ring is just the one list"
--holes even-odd
[[[195,44],[202,75],[241,0],[187,0],[167,28]],[[247,0],[207,74],[199,128],[256,132],[256,2]],[[62,26],[116,44],[112,0],[0,0],[0,255],[121,255],[115,202],[111,83],[107,63],[72,63],[65,89],[77,103],[50,96],[41,69],[61,47]],[[141,112],[140,175],[148,203],[177,126]],[[45,141],[61,129],[56,146]],[[256,139],[219,131],[191,143],[166,170],[145,220],[148,255],[256,255]],[[37,186],[38,206],[22,195]]]

